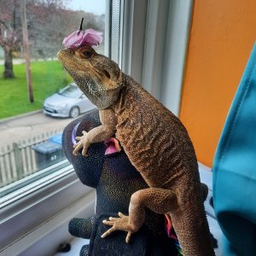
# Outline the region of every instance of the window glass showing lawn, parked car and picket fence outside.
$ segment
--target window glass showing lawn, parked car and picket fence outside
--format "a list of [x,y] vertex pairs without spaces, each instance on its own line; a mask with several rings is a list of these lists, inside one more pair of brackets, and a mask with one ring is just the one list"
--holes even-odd
[[[64,127],[95,108],[56,53],[82,18],[84,30],[106,33],[106,0],[0,0],[0,6],[1,194],[9,184],[24,177],[27,183],[27,177],[49,173],[65,160]],[[104,54],[104,37],[96,51]]]

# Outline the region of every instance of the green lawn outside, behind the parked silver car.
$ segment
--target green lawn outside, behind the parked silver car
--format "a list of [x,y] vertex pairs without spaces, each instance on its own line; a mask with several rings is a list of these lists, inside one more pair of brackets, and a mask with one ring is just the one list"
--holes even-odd
[[32,86],[34,102],[28,100],[26,66],[14,66],[15,79],[3,79],[0,65],[0,119],[42,109],[44,99],[54,94],[72,79],[63,71],[59,61],[32,61]]

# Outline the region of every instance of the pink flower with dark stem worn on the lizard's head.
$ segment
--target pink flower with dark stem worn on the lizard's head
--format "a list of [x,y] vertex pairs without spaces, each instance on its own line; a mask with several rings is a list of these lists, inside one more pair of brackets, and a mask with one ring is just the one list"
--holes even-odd
[[79,46],[97,46],[102,43],[102,32],[97,32],[92,28],[77,30],[71,33],[67,38],[64,38],[63,45],[66,48],[77,48]]

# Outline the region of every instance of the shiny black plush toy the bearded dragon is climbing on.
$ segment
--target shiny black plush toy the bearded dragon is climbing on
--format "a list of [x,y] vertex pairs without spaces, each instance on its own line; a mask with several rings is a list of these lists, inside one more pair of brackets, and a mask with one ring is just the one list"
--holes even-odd
[[[90,239],[90,244],[82,247],[81,256],[85,255],[177,255],[175,240],[166,234],[164,215],[147,210],[147,218],[141,229],[125,242],[125,234],[117,232],[102,239],[107,230],[102,220],[109,216],[118,217],[116,212],[128,213],[131,195],[139,189],[148,188],[143,177],[137,172],[117,141],[94,143],[89,148],[89,156],[73,155],[74,138],[82,131],[90,131],[100,125],[98,111],[86,113],[82,118],[67,125],[62,136],[62,145],[67,160],[74,167],[84,185],[96,189],[96,214],[91,218],[74,218],[69,224],[73,236]],[[172,236],[174,235],[172,230]]]

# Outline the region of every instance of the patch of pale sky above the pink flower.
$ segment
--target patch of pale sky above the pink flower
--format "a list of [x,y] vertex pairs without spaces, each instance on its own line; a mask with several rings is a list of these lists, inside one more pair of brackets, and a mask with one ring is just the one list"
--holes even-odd
[[67,7],[102,15],[105,14],[106,0],[70,0]]

